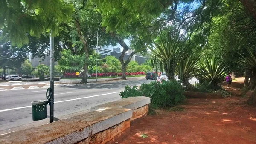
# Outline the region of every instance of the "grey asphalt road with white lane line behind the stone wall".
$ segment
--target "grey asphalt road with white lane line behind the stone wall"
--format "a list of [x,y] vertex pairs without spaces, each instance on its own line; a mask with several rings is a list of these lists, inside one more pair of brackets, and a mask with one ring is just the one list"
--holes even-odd
[[[127,85],[149,83],[145,79],[88,83],[75,86],[54,87],[55,121],[90,112],[90,108],[99,104],[120,99],[119,92]],[[47,117],[41,121],[32,121],[31,101],[44,100],[47,88],[21,89],[0,92],[0,135],[49,123]]]

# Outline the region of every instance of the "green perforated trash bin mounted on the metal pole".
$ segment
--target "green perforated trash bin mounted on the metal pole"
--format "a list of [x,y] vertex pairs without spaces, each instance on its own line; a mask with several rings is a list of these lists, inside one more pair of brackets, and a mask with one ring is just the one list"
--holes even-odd
[[47,118],[47,109],[46,105],[48,104],[47,100],[32,101],[32,119],[33,121],[39,121]]

